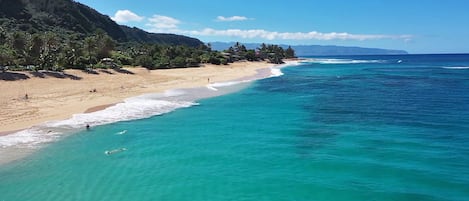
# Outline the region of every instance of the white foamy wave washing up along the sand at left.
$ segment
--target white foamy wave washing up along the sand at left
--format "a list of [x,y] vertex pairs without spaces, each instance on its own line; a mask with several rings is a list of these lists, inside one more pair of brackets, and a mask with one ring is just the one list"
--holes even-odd
[[[168,92],[169,94],[166,95],[175,95],[173,92]],[[0,147],[35,148],[40,144],[55,141],[64,133],[84,129],[86,125],[98,126],[119,121],[143,119],[165,114],[178,108],[197,105],[195,102],[155,99],[155,97],[160,96],[147,94],[128,98],[124,102],[104,110],[75,114],[66,120],[50,121],[10,135],[1,136]]]

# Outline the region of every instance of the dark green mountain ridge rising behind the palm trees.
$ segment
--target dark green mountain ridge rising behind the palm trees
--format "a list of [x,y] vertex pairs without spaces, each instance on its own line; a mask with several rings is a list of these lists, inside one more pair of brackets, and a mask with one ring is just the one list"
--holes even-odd
[[82,36],[104,30],[119,42],[146,42],[168,45],[203,44],[199,39],[176,34],[149,33],[118,25],[109,16],[72,0],[0,0],[0,26],[30,33],[53,31]]

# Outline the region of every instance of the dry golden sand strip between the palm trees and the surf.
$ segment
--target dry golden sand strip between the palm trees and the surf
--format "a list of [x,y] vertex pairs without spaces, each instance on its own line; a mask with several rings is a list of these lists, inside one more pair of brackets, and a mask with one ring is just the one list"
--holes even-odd
[[66,70],[65,78],[35,77],[22,72],[30,78],[0,80],[0,136],[43,122],[67,119],[73,114],[102,110],[129,97],[241,79],[272,66],[265,62],[237,62],[228,66],[155,71],[127,68],[130,73],[107,70],[98,71],[99,75]]

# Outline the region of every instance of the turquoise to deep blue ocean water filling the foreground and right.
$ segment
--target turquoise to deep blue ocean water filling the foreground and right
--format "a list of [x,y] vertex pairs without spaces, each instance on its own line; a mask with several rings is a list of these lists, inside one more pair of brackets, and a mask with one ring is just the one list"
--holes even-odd
[[2,165],[0,201],[469,199],[469,55],[282,71]]

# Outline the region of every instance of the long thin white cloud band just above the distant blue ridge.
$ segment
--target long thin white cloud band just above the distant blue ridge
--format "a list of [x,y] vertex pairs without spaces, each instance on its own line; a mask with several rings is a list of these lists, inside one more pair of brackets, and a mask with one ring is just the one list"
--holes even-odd
[[227,29],[216,30],[206,28],[200,31],[183,31],[184,34],[195,36],[229,36],[239,38],[261,38],[266,40],[377,40],[377,39],[404,39],[412,38],[410,35],[373,35],[373,34],[350,34],[350,33],[321,33],[312,32],[275,32],[263,29]]

